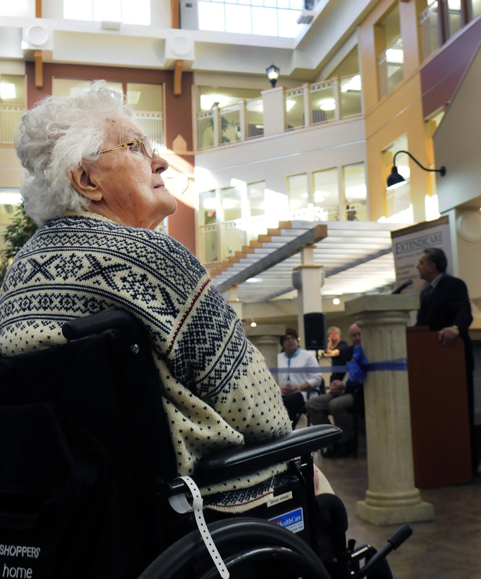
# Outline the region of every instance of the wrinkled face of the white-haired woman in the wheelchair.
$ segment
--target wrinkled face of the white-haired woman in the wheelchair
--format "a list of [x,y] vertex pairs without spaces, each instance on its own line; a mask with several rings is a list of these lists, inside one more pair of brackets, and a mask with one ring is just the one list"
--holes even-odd
[[[106,123],[104,149],[143,136],[134,123],[120,116]],[[167,168],[165,159],[156,153],[149,159],[138,145],[102,153],[90,167],[90,181],[102,194],[92,203],[126,225],[154,229],[177,209],[161,176]]]

